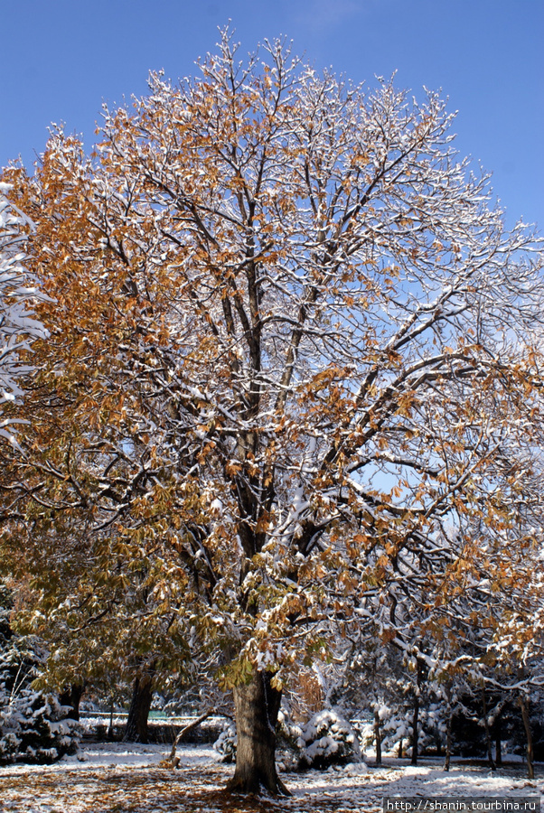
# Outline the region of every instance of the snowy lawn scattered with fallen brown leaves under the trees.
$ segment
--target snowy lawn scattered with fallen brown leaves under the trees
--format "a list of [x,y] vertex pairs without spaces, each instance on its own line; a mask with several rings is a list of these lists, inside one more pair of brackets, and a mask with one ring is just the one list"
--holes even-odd
[[0,769],[2,813],[378,813],[384,796],[544,795],[544,766],[530,782],[524,769],[437,763],[412,768],[389,761],[380,769],[351,765],[339,771],[282,774],[290,799],[224,797],[231,765],[217,762],[210,747],[178,751],[180,769],[160,766],[164,745],[84,743],[77,756],[51,766]]

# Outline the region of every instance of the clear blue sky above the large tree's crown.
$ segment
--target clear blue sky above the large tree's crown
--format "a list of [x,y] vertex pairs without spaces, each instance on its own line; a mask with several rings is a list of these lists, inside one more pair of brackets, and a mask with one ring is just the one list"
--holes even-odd
[[90,148],[103,100],[145,93],[150,69],[191,76],[229,18],[244,53],[285,34],[354,81],[441,88],[508,222],[544,230],[542,0],[0,0],[0,166],[32,165],[52,121]]

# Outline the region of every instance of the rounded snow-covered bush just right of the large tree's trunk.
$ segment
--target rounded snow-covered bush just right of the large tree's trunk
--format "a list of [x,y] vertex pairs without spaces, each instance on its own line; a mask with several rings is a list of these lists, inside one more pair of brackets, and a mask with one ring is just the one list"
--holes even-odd
[[324,770],[331,765],[361,762],[361,748],[352,725],[332,709],[314,715],[301,729],[300,765]]

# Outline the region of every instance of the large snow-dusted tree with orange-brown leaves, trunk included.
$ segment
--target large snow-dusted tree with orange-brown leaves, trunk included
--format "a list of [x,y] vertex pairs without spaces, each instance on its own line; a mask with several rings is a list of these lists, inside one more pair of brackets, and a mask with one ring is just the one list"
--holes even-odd
[[300,659],[384,594],[446,603],[479,556],[465,518],[520,497],[538,244],[505,231],[436,94],[365,92],[281,43],[241,62],[227,33],[201,70],[106,109],[91,157],[58,132],[8,173],[53,300],[23,556],[50,605],[59,555],[102,592],[141,570],[234,688],[231,788],[277,792]]

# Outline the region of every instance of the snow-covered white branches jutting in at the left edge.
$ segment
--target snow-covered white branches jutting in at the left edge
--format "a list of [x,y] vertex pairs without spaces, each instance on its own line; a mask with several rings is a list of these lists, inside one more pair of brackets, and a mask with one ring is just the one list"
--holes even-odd
[[29,221],[7,201],[8,190],[8,184],[0,183],[0,435],[12,440],[6,426],[14,420],[2,420],[2,406],[23,395],[19,379],[29,366],[21,353],[46,332],[33,317],[33,304],[42,294],[23,266]]

